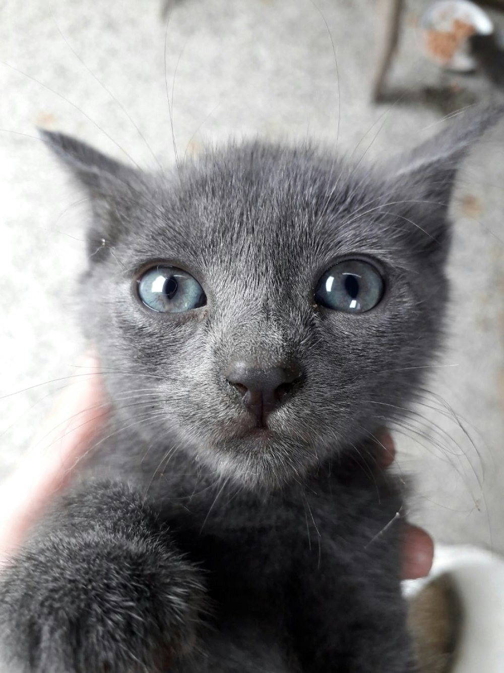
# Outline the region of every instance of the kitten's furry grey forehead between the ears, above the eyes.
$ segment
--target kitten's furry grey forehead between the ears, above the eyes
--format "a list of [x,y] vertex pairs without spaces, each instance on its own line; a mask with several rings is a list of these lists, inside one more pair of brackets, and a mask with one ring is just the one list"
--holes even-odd
[[202,157],[181,182],[159,184],[142,254],[205,270],[232,262],[235,275],[253,268],[284,279],[383,246],[383,232],[363,230],[360,217],[376,193],[368,172],[312,147],[233,147]]

